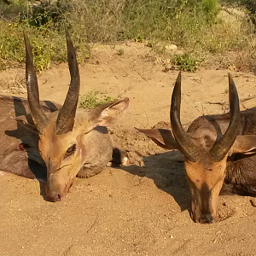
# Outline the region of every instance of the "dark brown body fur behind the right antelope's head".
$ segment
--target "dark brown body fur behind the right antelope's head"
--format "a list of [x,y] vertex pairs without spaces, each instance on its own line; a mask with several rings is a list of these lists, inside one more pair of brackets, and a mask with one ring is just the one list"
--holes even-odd
[[[255,135],[256,134],[256,108],[250,108],[240,113],[241,125],[239,127],[238,135]],[[214,124],[215,130],[221,133],[227,129],[230,122],[230,115],[220,114],[212,116],[203,116],[195,119],[189,125],[187,132],[191,133],[201,127],[202,124]],[[240,195],[256,196],[256,155],[234,153],[227,158],[227,167],[225,170],[224,183],[230,183],[225,192],[236,193]]]

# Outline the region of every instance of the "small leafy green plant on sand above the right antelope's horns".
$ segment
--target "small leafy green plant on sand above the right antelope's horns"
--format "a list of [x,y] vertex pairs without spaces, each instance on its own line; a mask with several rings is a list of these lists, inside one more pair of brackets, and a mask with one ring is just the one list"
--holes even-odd
[[201,61],[193,58],[188,53],[183,55],[175,55],[172,59],[173,64],[177,66],[178,70],[195,72],[201,65]]

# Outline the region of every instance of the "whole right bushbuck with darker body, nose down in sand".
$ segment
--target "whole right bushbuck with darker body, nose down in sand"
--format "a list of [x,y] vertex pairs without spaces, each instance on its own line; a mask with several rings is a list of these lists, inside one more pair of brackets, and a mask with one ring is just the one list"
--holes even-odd
[[256,196],[256,108],[240,113],[236,85],[229,74],[230,113],[195,119],[185,132],[180,121],[181,73],[172,92],[171,126],[137,129],[166,149],[184,155],[184,167],[192,195],[195,222],[216,221],[220,190]]

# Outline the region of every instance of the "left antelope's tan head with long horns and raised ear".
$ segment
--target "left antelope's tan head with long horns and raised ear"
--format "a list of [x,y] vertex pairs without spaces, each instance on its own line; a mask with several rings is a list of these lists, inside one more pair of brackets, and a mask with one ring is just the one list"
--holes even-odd
[[[49,201],[60,201],[67,195],[84,164],[88,151],[99,154],[100,148],[94,143],[86,144],[86,137],[96,126],[112,125],[125,112],[129,99],[108,102],[96,108],[86,110],[79,108],[80,76],[75,50],[68,32],[67,59],[71,82],[66,100],[60,110],[45,113],[39,103],[38,79],[33,66],[32,49],[24,32],[26,44],[26,87],[27,99],[34,127],[26,124],[26,129],[38,134],[39,152],[47,167],[46,198]],[[90,138],[91,142],[91,138]],[[103,142],[102,142],[103,143]],[[99,143],[97,143],[99,144]]]

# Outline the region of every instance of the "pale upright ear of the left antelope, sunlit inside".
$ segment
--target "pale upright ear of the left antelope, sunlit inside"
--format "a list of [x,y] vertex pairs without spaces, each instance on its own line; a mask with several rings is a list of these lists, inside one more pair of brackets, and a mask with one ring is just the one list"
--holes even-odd
[[129,99],[124,98],[116,102],[108,102],[90,109],[89,123],[91,129],[96,126],[114,125],[120,119],[129,105]]

